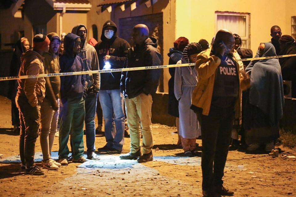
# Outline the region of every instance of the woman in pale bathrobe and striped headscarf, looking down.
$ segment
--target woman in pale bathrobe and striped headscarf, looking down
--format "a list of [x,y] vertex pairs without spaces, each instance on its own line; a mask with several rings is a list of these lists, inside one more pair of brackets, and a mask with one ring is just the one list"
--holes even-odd
[[[196,56],[202,51],[199,43],[187,45],[183,57],[177,64],[195,63]],[[192,92],[197,84],[197,71],[195,65],[176,67],[175,71],[175,97],[179,101],[179,135],[186,156],[195,155],[196,138],[201,135],[197,115],[191,107]]]

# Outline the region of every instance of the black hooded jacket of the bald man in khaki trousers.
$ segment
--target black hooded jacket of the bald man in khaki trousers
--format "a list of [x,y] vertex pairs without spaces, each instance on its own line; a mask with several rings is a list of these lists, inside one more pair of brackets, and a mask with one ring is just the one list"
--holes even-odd
[[[162,56],[157,51],[156,39],[149,37],[135,50],[129,50],[127,68],[162,65]],[[134,98],[141,93],[154,94],[158,87],[160,69],[123,71],[120,88],[125,98]]]

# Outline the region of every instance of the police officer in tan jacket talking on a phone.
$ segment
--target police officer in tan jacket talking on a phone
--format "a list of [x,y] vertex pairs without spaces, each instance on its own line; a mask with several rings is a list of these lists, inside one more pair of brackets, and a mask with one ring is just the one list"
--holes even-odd
[[192,95],[191,109],[201,123],[203,195],[232,196],[222,177],[228,154],[232,124],[240,116],[241,90],[250,86],[249,74],[239,69],[231,49],[234,37],[219,30],[212,49],[196,58],[198,84]]

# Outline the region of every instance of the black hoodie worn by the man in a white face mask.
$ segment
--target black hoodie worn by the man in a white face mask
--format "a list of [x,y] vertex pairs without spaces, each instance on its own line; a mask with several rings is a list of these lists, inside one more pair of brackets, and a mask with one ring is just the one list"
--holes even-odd
[[[114,27],[113,37],[108,40],[104,35],[104,29],[107,26]],[[130,44],[117,36],[117,26],[113,21],[106,21],[101,34],[101,41],[96,44],[95,49],[97,50],[100,70],[105,66],[104,56],[106,50],[109,50],[109,63],[111,69],[123,68],[125,61],[127,60],[127,54],[130,48]],[[120,88],[120,72],[101,73],[101,90],[115,90]]]

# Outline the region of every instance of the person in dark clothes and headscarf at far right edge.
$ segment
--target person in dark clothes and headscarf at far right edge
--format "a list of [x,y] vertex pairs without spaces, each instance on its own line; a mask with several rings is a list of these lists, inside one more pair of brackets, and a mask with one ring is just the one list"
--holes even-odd
[[[290,35],[282,35],[279,39],[280,55],[296,54],[296,41]],[[280,58],[282,78],[292,82],[292,98],[296,98],[296,56]]]

